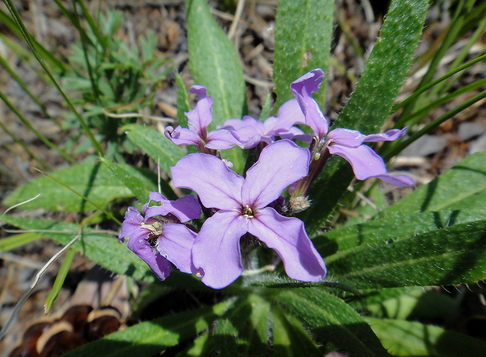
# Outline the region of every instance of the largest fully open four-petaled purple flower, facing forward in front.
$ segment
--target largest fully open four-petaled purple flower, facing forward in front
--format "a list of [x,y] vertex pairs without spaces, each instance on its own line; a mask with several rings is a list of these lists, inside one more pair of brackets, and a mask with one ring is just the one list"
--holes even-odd
[[274,249],[291,278],[317,282],[326,275],[304,223],[267,206],[307,174],[309,155],[292,141],[279,140],[262,150],[246,179],[217,157],[201,153],[171,167],[175,187],[190,188],[204,206],[219,209],[204,222],[192,246],[194,266],[204,273],[206,285],[221,289],[241,275],[240,238],[246,233]]

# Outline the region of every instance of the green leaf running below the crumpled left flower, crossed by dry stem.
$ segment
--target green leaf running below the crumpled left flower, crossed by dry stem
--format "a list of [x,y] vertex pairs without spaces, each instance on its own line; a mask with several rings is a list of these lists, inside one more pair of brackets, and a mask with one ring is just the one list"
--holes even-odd
[[[3,220],[21,229],[40,230],[43,237],[51,238],[61,244],[69,243],[79,230],[79,226],[74,223],[11,216],[5,216]],[[156,280],[154,273],[147,264],[125,245],[120,244],[117,238],[106,233],[83,228],[83,235],[74,243],[72,249],[81,251],[87,258],[112,272],[132,276],[134,279],[149,283]]]

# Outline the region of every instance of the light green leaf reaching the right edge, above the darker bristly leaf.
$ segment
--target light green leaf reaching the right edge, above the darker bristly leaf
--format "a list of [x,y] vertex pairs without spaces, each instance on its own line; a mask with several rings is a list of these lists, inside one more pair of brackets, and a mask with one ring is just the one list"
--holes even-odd
[[379,219],[326,232],[314,238],[314,246],[326,256],[359,244],[482,220],[486,210],[485,167],[486,153],[475,153],[384,209]]

